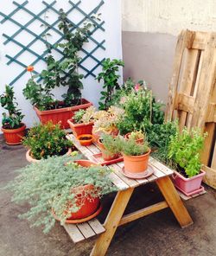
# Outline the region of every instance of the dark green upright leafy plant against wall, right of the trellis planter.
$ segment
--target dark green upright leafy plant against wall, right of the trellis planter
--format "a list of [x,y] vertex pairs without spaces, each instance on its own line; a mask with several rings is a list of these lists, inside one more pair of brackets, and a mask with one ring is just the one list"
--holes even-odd
[[119,67],[124,67],[124,61],[121,60],[111,60],[110,58],[105,59],[102,62],[102,72],[98,74],[97,80],[103,80],[103,89],[101,92],[101,98],[98,102],[100,110],[108,110],[108,108],[112,105],[111,100],[113,98],[116,90],[120,89],[118,84],[119,75],[118,70]]

